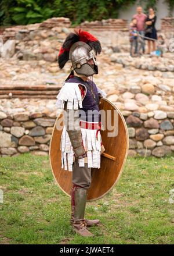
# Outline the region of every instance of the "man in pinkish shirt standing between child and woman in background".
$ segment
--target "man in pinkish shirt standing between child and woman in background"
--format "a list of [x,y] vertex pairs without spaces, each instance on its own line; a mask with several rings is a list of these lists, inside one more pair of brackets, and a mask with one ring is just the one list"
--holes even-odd
[[[133,18],[135,18],[137,20],[137,24],[136,24],[137,31],[140,35],[142,35],[142,37],[144,37],[144,24],[147,19],[147,15],[143,13],[142,6],[138,6],[136,8],[136,12],[137,13],[135,15],[133,15]],[[145,53],[145,41],[143,38],[142,38],[141,48],[142,48],[143,54],[144,54]],[[140,51],[140,49],[139,49],[139,51]],[[137,44],[136,44],[135,52],[136,52],[136,54],[138,53],[138,45]]]

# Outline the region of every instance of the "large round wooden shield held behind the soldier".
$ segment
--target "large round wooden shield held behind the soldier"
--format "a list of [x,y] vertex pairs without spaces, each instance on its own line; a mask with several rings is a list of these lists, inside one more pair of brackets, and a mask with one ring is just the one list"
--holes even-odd
[[[129,148],[129,136],[126,122],[121,112],[108,99],[102,98],[100,101],[100,109],[107,110],[106,119],[111,120],[105,129],[100,131],[105,151],[101,155],[100,169],[92,168],[92,182],[88,189],[88,201],[97,200],[106,195],[121,176]],[[113,116],[116,115],[114,123]],[[53,127],[52,138],[50,140],[49,158],[53,175],[60,189],[67,195],[71,195],[72,172],[61,169],[61,151],[60,138],[62,130],[56,129],[56,123],[63,119],[62,113],[57,116],[55,126]],[[108,122],[107,122],[108,123]],[[108,137],[113,131],[112,126],[117,126],[118,134],[114,137]]]

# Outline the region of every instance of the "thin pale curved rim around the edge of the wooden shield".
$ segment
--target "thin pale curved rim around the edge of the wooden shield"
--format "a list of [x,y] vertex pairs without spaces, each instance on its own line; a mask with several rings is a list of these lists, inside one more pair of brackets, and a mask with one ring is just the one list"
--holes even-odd
[[[110,187],[110,189],[108,189],[106,191],[106,193],[104,193],[103,195],[100,195],[100,197],[97,197],[97,198],[92,198],[92,199],[89,199],[89,200],[86,200],[87,202],[92,202],[92,201],[97,201],[99,199],[101,199],[102,197],[104,197],[104,195],[108,194],[111,190],[114,189],[115,185],[117,184],[119,178],[121,177],[122,175],[122,172],[123,172],[123,169],[124,169],[124,166],[125,166],[125,162],[126,162],[126,159],[128,157],[128,152],[129,152],[129,133],[128,133],[128,127],[126,125],[126,121],[124,119],[124,116],[122,115],[121,111],[118,109],[117,106],[115,106],[113,104],[113,102],[109,101],[107,98],[103,98],[105,101],[107,101],[108,103],[110,103],[111,105],[113,105],[113,107],[118,111],[121,119],[122,119],[122,122],[124,123],[124,127],[125,127],[125,131],[126,131],[126,144],[127,144],[127,147],[126,147],[126,152],[125,152],[125,157],[124,157],[124,161],[122,162],[122,166],[121,166],[121,169],[119,171],[119,175],[117,176],[117,179],[115,180],[113,186]],[[51,159],[50,159],[50,148],[51,148],[51,145],[52,145],[52,138],[53,138],[53,133],[55,131],[55,126],[56,126],[56,122],[57,122],[57,119],[59,118],[59,116],[61,115],[61,113],[63,112],[63,110],[59,113],[59,115],[57,116],[56,120],[55,120],[55,124],[53,126],[53,131],[52,131],[52,136],[50,138],[50,144],[49,144],[49,161],[50,161],[50,166],[51,166],[51,170],[52,170],[52,173],[53,173],[53,177],[56,181],[56,184],[59,186],[59,188],[61,189],[61,191],[63,191],[66,195],[68,195],[68,197],[71,198],[71,195],[68,194],[62,187],[60,187],[59,183],[57,182],[56,180],[56,177],[55,177],[55,173],[53,172],[53,169],[52,169],[52,162],[51,162]],[[69,172],[67,170],[67,172]]]

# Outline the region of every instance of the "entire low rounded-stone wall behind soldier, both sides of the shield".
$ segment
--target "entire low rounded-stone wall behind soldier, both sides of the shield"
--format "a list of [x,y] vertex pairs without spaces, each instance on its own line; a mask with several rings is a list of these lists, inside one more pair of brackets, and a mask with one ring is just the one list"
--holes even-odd
[[[129,131],[129,155],[164,157],[174,151],[174,112],[139,113],[122,111]],[[0,112],[1,157],[31,151],[48,155],[56,116],[27,112],[6,115]]]

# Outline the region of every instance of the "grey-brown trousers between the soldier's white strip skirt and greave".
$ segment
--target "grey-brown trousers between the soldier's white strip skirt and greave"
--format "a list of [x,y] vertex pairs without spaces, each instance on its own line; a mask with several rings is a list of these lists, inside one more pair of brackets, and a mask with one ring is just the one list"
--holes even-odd
[[85,163],[84,167],[79,167],[78,159],[75,159],[73,163],[73,178],[72,182],[83,189],[89,189],[91,184],[91,168],[88,168],[88,164]]

